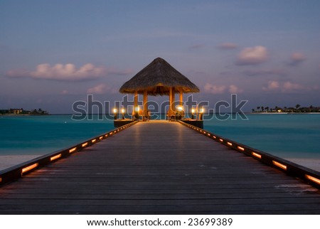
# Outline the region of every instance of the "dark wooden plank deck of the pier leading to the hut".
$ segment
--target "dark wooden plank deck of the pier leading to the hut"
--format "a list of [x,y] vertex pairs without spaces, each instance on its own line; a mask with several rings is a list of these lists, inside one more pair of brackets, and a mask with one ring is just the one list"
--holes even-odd
[[0,188],[0,214],[319,214],[320,191],[177,122],[139,122]]

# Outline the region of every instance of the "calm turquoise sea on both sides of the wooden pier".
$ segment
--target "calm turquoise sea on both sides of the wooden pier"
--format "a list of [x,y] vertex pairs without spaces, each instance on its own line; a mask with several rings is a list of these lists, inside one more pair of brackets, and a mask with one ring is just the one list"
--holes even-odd
[[[283,158],[320,159],[320,115],[247,115],[206,120],[204,129]],[[100,117],[101,119],[101,117]],[[113,121],[92,115],[0,117],[0,155],[48,154],[105,133]]]

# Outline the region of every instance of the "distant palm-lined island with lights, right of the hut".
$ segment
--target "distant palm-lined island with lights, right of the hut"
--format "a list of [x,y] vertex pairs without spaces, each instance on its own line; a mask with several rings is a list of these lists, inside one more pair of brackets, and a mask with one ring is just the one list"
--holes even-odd
[[297,104],[294,107],[277,107],[274,108],[260,106],[257,110],[252,109],[252,113],[319,113],[320,107],[302,107]]

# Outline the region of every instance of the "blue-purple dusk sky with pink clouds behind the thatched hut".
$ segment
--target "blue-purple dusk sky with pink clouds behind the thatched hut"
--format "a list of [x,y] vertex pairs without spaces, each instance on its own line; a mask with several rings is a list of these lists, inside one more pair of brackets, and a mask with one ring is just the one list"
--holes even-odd
[[210,107],[231,94],[245,111],[320,106],[319,23],[318,0],[1,0],[0,109],[113,103],[157,57]]

